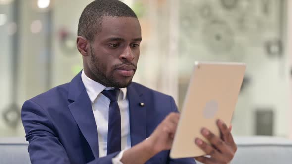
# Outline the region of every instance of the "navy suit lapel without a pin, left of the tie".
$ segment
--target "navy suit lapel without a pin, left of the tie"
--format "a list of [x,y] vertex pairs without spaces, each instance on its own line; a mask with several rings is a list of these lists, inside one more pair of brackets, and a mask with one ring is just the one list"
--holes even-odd
[[91,101],[81,80],[81,73],[70,82],[69,87],[68,99],[73,102],[68,107],[80,131],[90,145],[95,158],[98,158],[97,126],[91,107]]

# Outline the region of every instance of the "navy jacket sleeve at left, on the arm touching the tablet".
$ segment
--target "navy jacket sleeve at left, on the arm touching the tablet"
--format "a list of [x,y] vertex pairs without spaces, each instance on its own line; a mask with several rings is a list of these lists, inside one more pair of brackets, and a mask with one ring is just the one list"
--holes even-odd
[[[56,136],[54,125],[43,108],[28,100],[22,106],[21,119],[29,142],[28,152],[32,164],[70,164]],[[118,153],[95,159],[88,164],[112,164],[112,158]]]

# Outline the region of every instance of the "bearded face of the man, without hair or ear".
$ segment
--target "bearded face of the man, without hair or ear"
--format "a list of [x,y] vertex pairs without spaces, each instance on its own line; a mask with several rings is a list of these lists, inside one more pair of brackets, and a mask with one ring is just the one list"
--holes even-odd
[[107,87],[127,87],[137,69],[141,40],[138,19],[103,17],[87,60],[92,78]]

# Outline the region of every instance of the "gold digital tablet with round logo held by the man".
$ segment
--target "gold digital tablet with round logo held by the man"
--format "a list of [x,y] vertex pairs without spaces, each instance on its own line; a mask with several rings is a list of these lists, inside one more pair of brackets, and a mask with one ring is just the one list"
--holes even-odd
[[201,135],[201,128],[206,127],[220,136],[217,119],[229,127],[245,69],[244,63],[195,62],[170,151],[171,158],[205,155],[195,144],[195,138],[209,143]]

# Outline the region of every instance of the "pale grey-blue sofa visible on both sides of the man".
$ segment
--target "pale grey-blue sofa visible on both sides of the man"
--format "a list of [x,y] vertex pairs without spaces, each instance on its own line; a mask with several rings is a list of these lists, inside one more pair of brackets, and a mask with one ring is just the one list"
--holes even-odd
[[[235,137],[235,142],[231,164],[292,164],[292,140],[252,136]],[[31,164],[27,146],[24,138],[0,138],[0,164]]]

